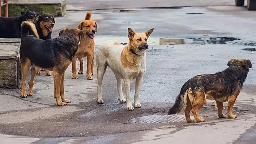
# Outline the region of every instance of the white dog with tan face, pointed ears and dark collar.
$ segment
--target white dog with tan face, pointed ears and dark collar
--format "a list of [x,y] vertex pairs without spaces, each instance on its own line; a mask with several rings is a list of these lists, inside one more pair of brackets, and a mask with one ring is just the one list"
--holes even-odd
[[[126,109],[133,110],[130,84],[132,79],[136,79],[136,90],[134,95],[134,107],[140,108],[139,102],[140,88],[143,75],[146,72],[146,49],[148,49],[147,40],[153,32],[153,28],[145,32],[136,33],[128,28],[129,43],[124,46],[117,42],[107,42],[99,46],[96,54],[97,79],[98,79],[98,103],[102,104],[102,79],[107,66],[114,72],[117,80],[117,89],[119,101],[127,103]],[[124,79],[125,98],[123,96],[122,82]]]

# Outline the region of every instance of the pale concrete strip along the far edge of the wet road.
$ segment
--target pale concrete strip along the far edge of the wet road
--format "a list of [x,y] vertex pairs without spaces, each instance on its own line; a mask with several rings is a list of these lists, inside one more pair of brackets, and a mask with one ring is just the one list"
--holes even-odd
[[66,10],[234,5],[234,0],[67,0]]

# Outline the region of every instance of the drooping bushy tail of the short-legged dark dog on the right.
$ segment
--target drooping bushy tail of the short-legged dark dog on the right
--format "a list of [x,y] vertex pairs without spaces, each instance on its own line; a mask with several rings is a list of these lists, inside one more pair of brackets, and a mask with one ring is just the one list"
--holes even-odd
[[181,92],[176,97],[174,105],[169,109],[167,115],[179,114],[183,108],[187,107],[187,102],[192,102],[192,101],[193,101],[192,89],[188,88],[185,92]]

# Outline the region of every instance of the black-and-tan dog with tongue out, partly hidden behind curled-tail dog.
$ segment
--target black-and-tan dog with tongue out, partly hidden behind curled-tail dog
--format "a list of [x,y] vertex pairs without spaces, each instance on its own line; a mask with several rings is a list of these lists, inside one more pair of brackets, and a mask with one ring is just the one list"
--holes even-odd
[[[55,17],[50,13],[44,13],[38,16],[35,19],[35,27],[37,29],[38,35],[40,39],[52,39],[52,28],[55,24]],[[36,74],[41,74],[40,69],[38,67],[35,68]],[[50,76],[51,73],[49,70],[41,69],[41,71],[45,71],[45,75]]]

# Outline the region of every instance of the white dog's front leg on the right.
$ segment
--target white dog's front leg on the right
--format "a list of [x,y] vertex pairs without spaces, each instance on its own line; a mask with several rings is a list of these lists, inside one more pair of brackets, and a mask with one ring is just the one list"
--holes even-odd
[[143,80],[143,74],[139,75],[135,81],[135,95],[134,95],[134,107],[135,108],[141,107],[139,98],[140,98],[140,88],[141,88],[142,80]]

